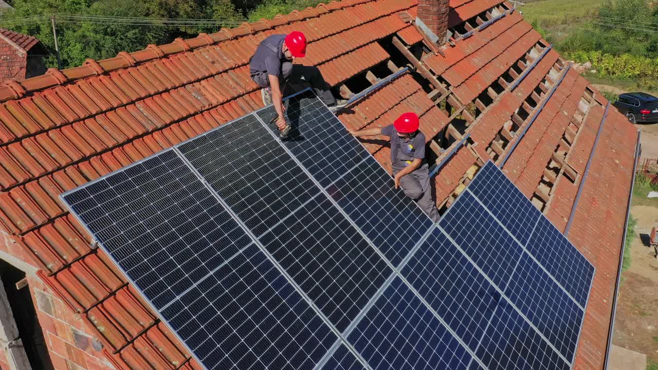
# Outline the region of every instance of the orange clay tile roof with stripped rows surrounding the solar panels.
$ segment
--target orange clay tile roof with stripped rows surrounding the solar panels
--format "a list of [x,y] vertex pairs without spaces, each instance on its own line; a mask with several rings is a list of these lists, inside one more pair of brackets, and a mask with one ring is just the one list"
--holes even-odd
[[[317,65],[341,90],[354,88],[352,80],[365,81],[370,68],[393,60],[401,65],[410,50],[420,50],[422,36],[396,13],[407,12],[413,19],[416,3],[332,2],[0,87],[0,230],[13,236],[41,267],[43,280],[97,331],[116,367],[198,369],[107,255],[90,245],[89,235],[57,197],[261,107],[247,63],[270,34],[305,32],[310,44],[303,63]],[[501,0],[450,4],[449,24],[461,32],[492,16],[493,7],[497,12],[511,9]],[[443,48],[445,56],[428,49],[422,53],[415,62],[424,72],[404,74],[340,115],[346,126],[363,128],[384,126],[401,111],[413,109],[422,117],[430,146],[443,153],[440,158],[457,145],[454,136],[470,132],[468,145],[436,177],[441,206],[472,178],[474,167],[491,157],[499,161],[510,150],[516,138],[510,130],[520,132],[565,73],[559,55],[549,51],[515,90],[501,80],[516,78],[547,45],[516,12],[470,38],[453,41],[454,46]],[[445,92],[431,92],[437,85]],[[561,228],[605,103],[569,71],[505,167],[529,198],[545,198],[538,204]],[[453,123],[462,119],[467,127],[455,133]],[[450,132],[453,138],[443,139]],[[578,348],[578,369],[600,369],[605,356],[634,135],[632,125],[611,111],[570,233],[599,272]],[[388,147],[381,140],[365,144],[390,169]],[[554,178],[547,168],[555,170]],[[589,219],[581,217],[588,214]]]

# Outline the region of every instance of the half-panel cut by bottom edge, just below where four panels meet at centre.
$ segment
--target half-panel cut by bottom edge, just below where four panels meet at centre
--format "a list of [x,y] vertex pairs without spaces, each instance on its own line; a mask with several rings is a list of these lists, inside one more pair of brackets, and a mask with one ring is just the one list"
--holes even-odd
[[347,337],[374,370],[466,369],[471,356],[400,279]]

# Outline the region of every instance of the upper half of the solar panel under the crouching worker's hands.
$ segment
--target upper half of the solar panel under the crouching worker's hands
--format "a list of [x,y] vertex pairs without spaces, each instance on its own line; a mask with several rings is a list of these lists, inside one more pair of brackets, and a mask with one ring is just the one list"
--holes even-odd
[[[284,101],[286,120],[291,124],[290,138],[282,143],[308,169],[324,188],[356,166],[368,151],[326,108],[311,90],[301,92]],[[263,122],[276,117],[274,107],[257,112]],[[278,134],[276,124],[268,126]]]

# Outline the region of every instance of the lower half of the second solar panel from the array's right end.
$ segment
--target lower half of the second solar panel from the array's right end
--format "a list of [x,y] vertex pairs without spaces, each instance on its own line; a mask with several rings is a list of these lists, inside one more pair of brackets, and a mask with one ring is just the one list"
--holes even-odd
[[572,361],[585,313],[526,253],[505,295]]

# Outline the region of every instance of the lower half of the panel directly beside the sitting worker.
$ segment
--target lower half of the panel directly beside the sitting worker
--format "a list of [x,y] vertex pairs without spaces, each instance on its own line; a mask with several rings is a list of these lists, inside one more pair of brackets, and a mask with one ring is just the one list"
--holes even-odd
[[343,211],[394,266],[433,225],[374,158],[368,157],[327,188]]

